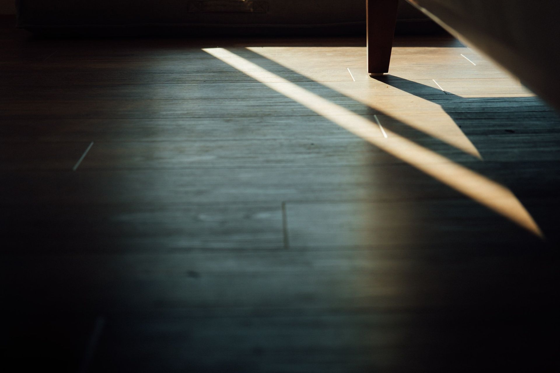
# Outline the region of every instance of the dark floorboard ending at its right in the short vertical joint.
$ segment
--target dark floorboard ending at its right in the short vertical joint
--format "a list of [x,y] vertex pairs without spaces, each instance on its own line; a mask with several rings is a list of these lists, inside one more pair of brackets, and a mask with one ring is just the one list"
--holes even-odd
[[[2,218],[13,253],[282,249],[280,204],[21,206]],[[55,211],[55,212],[53,212]],[[25,232],[31,230],[34,235]],[[48,240],[45,240],[48,238]]]

